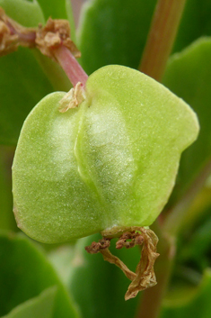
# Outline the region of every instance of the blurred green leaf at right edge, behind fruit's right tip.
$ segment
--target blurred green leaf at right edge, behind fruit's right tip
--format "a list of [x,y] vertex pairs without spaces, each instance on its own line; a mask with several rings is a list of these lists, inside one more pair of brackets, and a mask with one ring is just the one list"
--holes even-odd
[[189,186],[211,155],[211,38],[202,38],[169,60],[163,84],[198,114],[200,133],[181,158],[176,197]]

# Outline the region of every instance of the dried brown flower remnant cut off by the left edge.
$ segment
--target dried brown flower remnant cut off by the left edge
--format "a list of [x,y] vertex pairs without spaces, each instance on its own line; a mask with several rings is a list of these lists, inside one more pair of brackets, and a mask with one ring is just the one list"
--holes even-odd
[[35,31],[36,29],[24,28],[14,22],[0,7],[0,56],[17,50],[19,45],[34,47]]

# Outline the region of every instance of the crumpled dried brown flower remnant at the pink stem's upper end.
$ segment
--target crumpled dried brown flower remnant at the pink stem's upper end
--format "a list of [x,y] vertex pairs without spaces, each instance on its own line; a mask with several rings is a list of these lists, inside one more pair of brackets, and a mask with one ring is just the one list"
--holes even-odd
[[65,46],[72,52],[75,58],[80,58],[81,53],[77,50],[75,43],[70,39],[70,26],[66,20],[48,19],[44,27],[40,24],[36,34],[36,45],[42,54],[55,59],[52,49]]

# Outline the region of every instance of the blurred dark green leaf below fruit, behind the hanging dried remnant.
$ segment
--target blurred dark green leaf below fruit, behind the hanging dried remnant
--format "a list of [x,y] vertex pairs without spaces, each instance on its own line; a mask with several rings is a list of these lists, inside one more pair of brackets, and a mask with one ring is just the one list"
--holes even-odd
[[[130,281],[119,268],[104,261],[100,253],[91,255],[84,250],[85,246],[99,239],[100,235],[92,235],[78,241],[72,262],[75,268],[70,273],[70,291],[85,318],[134,317],[140,295],[125,301]],[[135,271],[140,259],[137,247],[116,250],[112,246],[110,251]]]

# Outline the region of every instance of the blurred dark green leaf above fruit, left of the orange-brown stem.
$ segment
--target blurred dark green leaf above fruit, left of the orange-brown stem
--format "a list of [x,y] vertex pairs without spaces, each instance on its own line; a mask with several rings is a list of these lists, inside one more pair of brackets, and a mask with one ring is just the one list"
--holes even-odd
[[137,68],[156,0],[92,0],[84,7],[78,45],[88,74],[108,64]]

